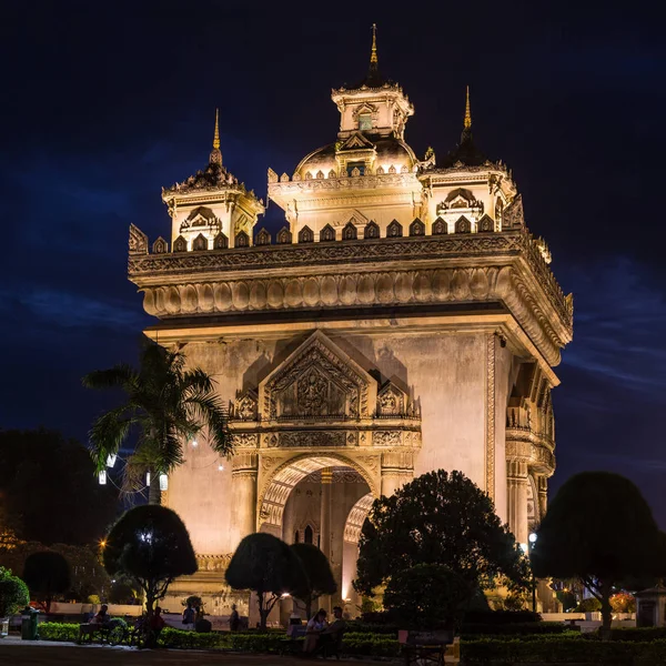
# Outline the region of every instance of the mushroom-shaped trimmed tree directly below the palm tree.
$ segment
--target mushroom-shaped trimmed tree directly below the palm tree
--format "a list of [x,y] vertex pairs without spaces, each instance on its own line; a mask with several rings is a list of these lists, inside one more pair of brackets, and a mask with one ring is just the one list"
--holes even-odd
[[152,504],[131,508],[111,527],[102,562],[111,577],[125,575],[139,585],[149,617],[173,579],[198,568],[183,522],[170,508]]

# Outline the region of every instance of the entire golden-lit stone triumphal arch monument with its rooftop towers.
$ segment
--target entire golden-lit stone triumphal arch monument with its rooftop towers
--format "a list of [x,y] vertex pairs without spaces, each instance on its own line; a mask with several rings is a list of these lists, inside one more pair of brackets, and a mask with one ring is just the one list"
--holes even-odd
[[130,231],[129,276],[159,319],[148,335],[183,346],[231,405],[233,458],[190,445],[164,497],[200,556],[190,588],[214,597],[213,613],[232,601],[222,572],[251,532],[319,543],[337,601],[353,599],[373,497],[461,470],[526,542],[555,468],[552,367],[572,299],[511,172],[476,149],[468,98],[461,142],[438,163],[405,143],[414,108],[376,57],[332,99],[336,140],[291,175],[269,170],[285,212],[274,239],[255,233],[262,202],[219,144],[205,171],[163,192],[171,246],[150,251]]

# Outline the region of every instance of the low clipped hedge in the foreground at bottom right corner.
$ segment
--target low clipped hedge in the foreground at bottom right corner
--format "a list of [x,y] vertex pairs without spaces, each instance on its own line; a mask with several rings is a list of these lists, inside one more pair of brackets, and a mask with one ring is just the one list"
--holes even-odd
[[603,664],[647,666],[666,664],[666,640],[654,643],[601,642],[541,637],[534,640],[471,640],[461,643],[464,664]]

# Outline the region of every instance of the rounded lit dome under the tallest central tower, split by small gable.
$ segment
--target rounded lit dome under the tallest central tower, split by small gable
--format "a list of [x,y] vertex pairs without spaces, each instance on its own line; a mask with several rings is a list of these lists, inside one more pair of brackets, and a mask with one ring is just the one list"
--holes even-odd
[[[374,148],[375,150],[374,170],[380,167],[382,167],[385,172],[389,172],[391,167],[397,172],[400,172],[403,167],[406,167],[408,171],[414,170],[414,165],[417,162],[416,155],[411,147],[401,139],[394,137],[377,138],[375,141],[372,139],[369,140],[365,137],[363,137],[363,139],[365,139],[367,143],[367,148]],[[324,178],[327,178],[331,171],[337,173],[339,163],[336,155],[346,151],[347,142],[349,141],[337,141],[317,148],[301,160],[294,173],[300,174],[301,178],[305,178],[307,172],[311,173],[312,178],[316,178],[316,174],[320,171],[324,174]],[[354,149],[350,148],[350,150]]]

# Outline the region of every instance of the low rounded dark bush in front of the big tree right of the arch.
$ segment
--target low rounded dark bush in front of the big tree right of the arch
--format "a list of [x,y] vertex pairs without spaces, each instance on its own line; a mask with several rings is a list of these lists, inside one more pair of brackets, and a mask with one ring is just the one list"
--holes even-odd
[[470,584],[442,564],[397,572],[384,592],[384,606],[404,628],[451,627],[462,619]]

